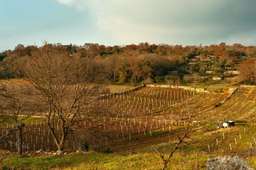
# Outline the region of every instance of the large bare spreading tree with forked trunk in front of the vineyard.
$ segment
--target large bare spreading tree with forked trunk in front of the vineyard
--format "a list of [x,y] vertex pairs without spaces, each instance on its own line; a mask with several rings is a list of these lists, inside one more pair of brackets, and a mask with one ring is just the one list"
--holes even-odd
[[38,111],[47,118],[59,151],[63,150],[67,135],[76,131],[76,123],[103,117],[102,105],[93,99],[102,91],[104,74],[81,52],[70,56],[45,43],[31,57],[20,58],[17,65],[26,82],[24,86],[36,97]]

